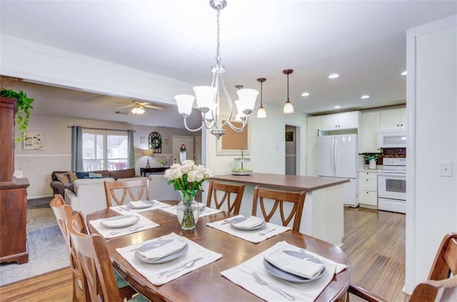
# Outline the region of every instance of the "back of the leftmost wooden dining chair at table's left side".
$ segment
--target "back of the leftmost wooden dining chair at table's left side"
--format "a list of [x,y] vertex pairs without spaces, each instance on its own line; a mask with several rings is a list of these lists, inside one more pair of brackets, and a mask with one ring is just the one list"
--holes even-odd
[[[68,223],[71,219],[71,206],[65,204],[64,198],[61,194],[55,194],[54,199],[51,200],[50,203],[51,209],[54,212],[54,216],[56,217],[57,224],[64,235],[64,239],[66,242],[67,249],[69,251],[70,256],[70,265],[71,265],[71,273],[73,275],[73,301],[86,301],[86,296],[88,295],[87,287],[86,287],[86,277],[83,274],[81,264],[79,263],[78,257],[76,257],[74,248],[70,241],[70,235],[68,230]],[[81,226],[81,231],[87,233],[86,226]]]

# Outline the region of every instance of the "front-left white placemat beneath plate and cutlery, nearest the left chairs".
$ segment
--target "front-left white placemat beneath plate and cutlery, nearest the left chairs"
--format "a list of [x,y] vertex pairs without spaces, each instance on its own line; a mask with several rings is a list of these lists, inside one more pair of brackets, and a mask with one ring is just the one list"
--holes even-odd
[[[207,264],[211,264],[212,262],[222,258],[222,254],[218,254],[214,251],[206,249],[203,246],[196,244],[194,241],[191,241],[186,237],[181,237],[175,233],[161,236],[160,238],[185,240],[187,244],[189,244],[189,249],[183,256],[179,257],[178,259],[174,259],[173,261],[166,262],[164,264],[146,264],[144,262],[139,261],[135,257],[135,249],[139,248],[139,246],[142,246],[143,244],[157,240],[159,238],[151,239],[149,241],[144,241],[139,244],[133,244],[131,246],[125,246],[123,248],[116,249],[116,251],[118,251],[119,254],[121,254],[121,256],[123,256],[126,259],[126,261],[129,261],[129,264],[131,264],[131,266],[133,266],[134,269],[136,269],[136,271],[139,272],[139,274],[143,275],[145,278],[147,278],[151,283],[155,285],[165,284],[169,281],[179,278],[180,276],[183,276],[191,271],[195,271],[196,269],[206,266]],[[182,269],[181,271],[178,271],[176,274],[171,276],[168,276],[166,274],[164,276],[160,276],[160,274],[164,271],[178,268],[179,266],[183,266],[191,260],[199,258],[201,259],[199,261],[196,261],[194,266],[188,269]]]

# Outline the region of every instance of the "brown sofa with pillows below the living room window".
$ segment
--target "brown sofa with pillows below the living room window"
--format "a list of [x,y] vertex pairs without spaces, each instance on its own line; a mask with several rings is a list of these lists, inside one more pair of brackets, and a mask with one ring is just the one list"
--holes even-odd
[[[91,176],[89,176],[89,173]],[[51,183],[49,184],[53,189],[54,194],[61,194],[64,196],[64,190],[69,189],[74,192],[74,181],[76,179],[89,179],[96,177],[111,177],[114,180],[120,178],[129,178],[137,177],[135,175],[135,169],[126,169],[126,170],[100,170],[100,171],[91,171],[91,172],[73,172],[73,171],[54,171],[51,174]]]

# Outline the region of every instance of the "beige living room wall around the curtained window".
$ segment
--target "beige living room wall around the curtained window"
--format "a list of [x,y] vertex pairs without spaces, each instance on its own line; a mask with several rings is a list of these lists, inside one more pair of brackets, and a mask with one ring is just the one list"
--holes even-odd
[[[171,155],[171,137],[173,135],[197,135],[184,129],[169,127],[146,127],[128,123],[105,122],[99,120],[76,120],[69,118],[31,115],[29,131],[42,132],[44,147],[42,150],[23,150],[22,143],[16,144],[14,150],[14,166],[21,169],[23,177],[29,179],[30,187],[27,189],[29,199],[52,196],[51,173],[53,171],[71,170],[71,129],[68,126],[80,125],[83,127],[100,127],[119,130],[135,130],[135,161],[136,174],[140,174],[140,167],[146,167],[146,157],[142,150],[148,147],[149,133],[156,131],[162,140],[169,140],[168,145],[162,146],[162,155],[151,157],[151,167],[159,167],[159,160],[166,154]],[[145,143],[140,143],[140,137],[145,137]]]

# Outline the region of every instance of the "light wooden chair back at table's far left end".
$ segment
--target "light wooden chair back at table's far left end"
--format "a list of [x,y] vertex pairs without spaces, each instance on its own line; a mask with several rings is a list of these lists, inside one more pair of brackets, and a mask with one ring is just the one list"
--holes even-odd
[[104,182],[104,186],[107,209],[113,205],[112,201],[120,206],[126,201],[149,200],[149,178],[147,177],[118,179],[116,182]]

